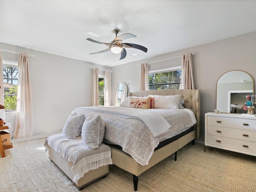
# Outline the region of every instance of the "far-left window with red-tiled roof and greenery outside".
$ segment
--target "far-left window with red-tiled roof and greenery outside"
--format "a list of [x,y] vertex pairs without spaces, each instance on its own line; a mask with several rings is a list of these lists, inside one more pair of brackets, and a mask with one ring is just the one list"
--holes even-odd
[[16,110],[18,88],[18,62],[3,60],[3,74],[5,110]]

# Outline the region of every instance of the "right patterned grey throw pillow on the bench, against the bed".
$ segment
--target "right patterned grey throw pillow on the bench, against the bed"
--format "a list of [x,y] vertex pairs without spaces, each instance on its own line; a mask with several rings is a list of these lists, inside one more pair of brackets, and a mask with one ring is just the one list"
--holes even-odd
[[82,139],[84,144],[91,149],[98,149],[105,134],[105,123],[100,115],[89,115],[82,126]]

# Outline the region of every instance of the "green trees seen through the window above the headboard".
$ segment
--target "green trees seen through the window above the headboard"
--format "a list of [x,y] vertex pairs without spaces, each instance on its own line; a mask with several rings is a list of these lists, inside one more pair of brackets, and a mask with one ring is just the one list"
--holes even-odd
[[148,75],[149,89],[179,89],[181,70]]

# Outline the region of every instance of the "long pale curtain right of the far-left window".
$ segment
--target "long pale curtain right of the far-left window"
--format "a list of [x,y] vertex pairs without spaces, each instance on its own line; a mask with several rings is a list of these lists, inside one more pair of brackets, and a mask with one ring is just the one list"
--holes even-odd
[[18,53],[18,92],[14,138],[33,135],[33,112],[28,54]]

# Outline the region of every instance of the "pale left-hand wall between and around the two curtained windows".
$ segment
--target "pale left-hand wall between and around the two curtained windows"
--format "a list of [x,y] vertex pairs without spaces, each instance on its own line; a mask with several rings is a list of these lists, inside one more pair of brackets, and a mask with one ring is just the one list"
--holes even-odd
[[[34,135],[47,136],[61,131],[74,108],[91,106],[92,68],[110,69],[1,42],[0,48],[35,56],[29,58]],[[17,61],[18,56],[3,51],[2,58]],[[99,74],[104,71],[100,70]],[[5,114],[6,123],[12,122],[10,132],[14,129],[14,118],[13,113]]]

